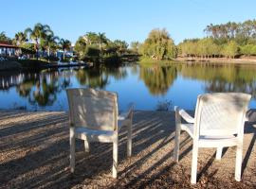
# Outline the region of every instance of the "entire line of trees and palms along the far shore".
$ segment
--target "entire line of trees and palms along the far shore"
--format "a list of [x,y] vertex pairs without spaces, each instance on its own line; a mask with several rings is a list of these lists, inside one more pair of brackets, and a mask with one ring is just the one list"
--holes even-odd
[[[166,29],[153,29],[143,43],[128,43],[121,40],[111,41],[105,33],[87,32],[75,43],[74,51],[79,60],[93,62],[118,62],[136,60],[138,56],[153,60],[173,60],[179,57],[198,58],[235,58],[241,55],[256,56],[256,20],[243,23],[229,22],[222,25],[207,26],[204,31],[207,37],[186,39],[178,45]],[[27,43],[30,40],[32,43]],[[46,52],[47,57],[56,54],[58,49],[71,50],[68,40],[55,36],[47,25],[36,24],[24,32],[15,34],[9,39],[4,32],[0,33],[0,42],[5,41],[21,46],[23,52]],[[65,59],[63,57],[63,59]]]

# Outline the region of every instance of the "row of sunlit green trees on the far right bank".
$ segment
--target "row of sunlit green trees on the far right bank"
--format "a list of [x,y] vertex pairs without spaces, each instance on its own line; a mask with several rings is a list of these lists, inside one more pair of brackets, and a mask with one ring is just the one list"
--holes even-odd
[[256,56],[256,20],[244,23],[229,22],[207,26],[203,39],[187,39],[178,44],[181,57],[215,58]]

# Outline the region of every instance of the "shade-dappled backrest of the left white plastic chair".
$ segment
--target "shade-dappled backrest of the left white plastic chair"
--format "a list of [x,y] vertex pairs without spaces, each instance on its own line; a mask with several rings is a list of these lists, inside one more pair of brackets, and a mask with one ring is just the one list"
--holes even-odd
[[67,89],[69,119],[73,127],[115,130],[118,125],[118,97],[94,89]]

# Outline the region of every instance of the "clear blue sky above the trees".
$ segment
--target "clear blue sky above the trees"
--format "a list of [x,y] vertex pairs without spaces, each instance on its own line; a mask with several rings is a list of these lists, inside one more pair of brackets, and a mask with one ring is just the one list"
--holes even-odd
[[88,31],[131,43],[166,28],[180,43],[204,37],[210,23],[256,19],[255,8],[256,0],[0,0],[0,32],[13,38],[42,23],[72,43]]

